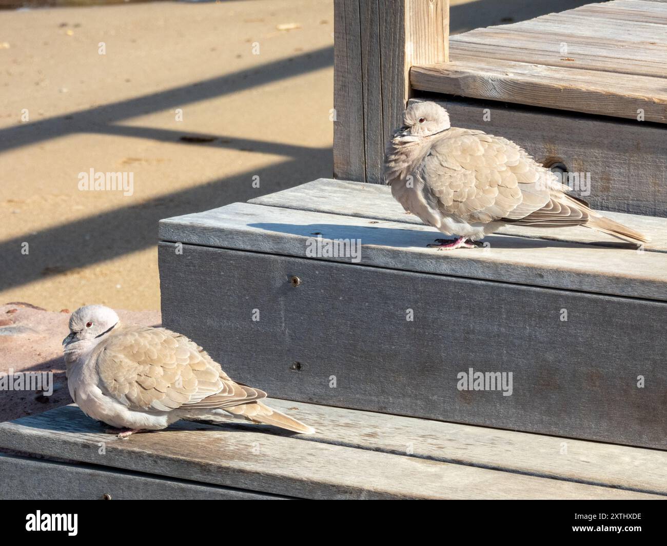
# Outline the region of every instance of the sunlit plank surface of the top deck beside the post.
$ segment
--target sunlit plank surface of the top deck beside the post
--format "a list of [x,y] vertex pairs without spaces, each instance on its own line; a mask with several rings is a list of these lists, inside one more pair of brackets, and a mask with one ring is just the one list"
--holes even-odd
[[667,3],[614,0],[450,37],[414,89],[667,123]]

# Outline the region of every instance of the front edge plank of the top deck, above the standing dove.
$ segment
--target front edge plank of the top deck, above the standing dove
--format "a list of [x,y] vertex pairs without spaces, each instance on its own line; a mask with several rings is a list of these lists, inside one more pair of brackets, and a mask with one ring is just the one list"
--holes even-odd
[[416,66],[422,91],[667,123],[667,91],[659,78],[532,65],[500,59],[452,57],[447,65]]

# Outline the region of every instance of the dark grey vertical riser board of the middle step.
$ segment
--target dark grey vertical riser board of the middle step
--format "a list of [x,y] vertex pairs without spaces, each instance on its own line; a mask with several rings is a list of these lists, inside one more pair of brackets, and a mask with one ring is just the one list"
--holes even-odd
[[[163,324],[275,397],[667,447],[664,303],[170,243],[159,267]],[[471,367],[514,393],[458,390]]]

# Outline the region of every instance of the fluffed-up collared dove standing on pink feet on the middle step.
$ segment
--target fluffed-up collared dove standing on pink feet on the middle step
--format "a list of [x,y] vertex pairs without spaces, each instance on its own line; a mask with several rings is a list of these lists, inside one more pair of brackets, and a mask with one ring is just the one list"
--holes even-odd
[[406,211],[457,236],[428,245],[438,249],[475,247],[475,241],[508,223],[583,225],[632,243],[648,242],[564,193],[570,188],[514,142],[451,127],[446,109],[433,102],[406,109],[404,126],[386,150],[385,180]]

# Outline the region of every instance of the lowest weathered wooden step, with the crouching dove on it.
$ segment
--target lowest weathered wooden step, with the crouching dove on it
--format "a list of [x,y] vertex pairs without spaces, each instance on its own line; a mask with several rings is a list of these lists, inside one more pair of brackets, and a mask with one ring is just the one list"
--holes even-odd
[[0,499],[667,499],[666,451],[269,404],[317,434],[179,421],[121,440],[75,405],[1,423],[0,449],[47,460],[0,454]]

